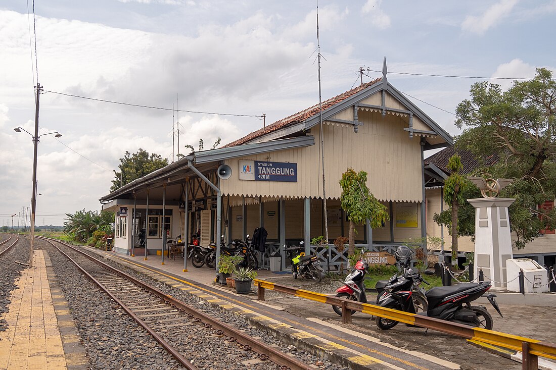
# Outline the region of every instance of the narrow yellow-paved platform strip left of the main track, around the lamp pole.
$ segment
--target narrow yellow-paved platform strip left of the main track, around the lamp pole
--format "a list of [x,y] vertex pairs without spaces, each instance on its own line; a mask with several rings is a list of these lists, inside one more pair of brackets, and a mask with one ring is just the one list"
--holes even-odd
[[0,318],[0,369],[86,369],[83,347],[46,252],[34,251]]

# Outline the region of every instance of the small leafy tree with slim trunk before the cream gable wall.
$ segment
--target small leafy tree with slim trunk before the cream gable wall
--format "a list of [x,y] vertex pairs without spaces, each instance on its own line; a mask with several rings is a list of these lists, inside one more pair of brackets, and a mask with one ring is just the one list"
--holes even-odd
[[342,173],[340,180],[342,194],[340,196],[342,209],[347,212],[349,219],[349,249],[351,256],[355,252],[355,225],[363,224],[369,219],[372,228],[379,228],[389,219],[386,206],[376,199],[367,187],[367,173],[355,172],[348,168]]

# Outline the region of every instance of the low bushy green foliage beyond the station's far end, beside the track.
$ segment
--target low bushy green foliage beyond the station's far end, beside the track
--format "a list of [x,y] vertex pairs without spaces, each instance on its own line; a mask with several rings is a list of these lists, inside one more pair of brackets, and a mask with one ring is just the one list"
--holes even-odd
[[110,232],[114,222],[114,212],[77,211],[66,213],[64,232],[71,234],[76,241],[85,242],[95,231]]

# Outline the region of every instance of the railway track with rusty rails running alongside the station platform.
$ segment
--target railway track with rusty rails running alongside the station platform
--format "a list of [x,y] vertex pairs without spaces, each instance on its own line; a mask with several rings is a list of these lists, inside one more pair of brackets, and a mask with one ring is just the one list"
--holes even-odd
[[[311,369],[304,362],[268,346],[260,339],[251,337],[66,243],[41,239],[56,247],[76,264],[83,274],[116,301],[123,311],[187,369],[197,369],[192,363],[194,361],[189,359],[198,357],[199,351],[207,356],[215,356],[219,352],[222,352],[222,356],[229,356],[226,351],[220,351],[215,346],[215,343],[222,341],[235,345],[235,351],[241,353],[246,368],[256,363],[263,365],[263,368],[271,368],[273,362],[276,368],[282,370]],[[208,347],[200,349],[198,344],[204,342]],[[193,343],[194,349],[190,346]],[[210,368],[218,368],[219,363],[226,363],[224,359],[219,361],[216,358],[211,359],[211,362]]]

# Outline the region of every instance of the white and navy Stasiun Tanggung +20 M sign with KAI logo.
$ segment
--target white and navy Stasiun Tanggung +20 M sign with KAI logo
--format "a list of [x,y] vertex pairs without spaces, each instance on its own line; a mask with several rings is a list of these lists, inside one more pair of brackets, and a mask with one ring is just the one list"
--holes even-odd
[[297,182],[297,163],[239,161],[240,180]]

